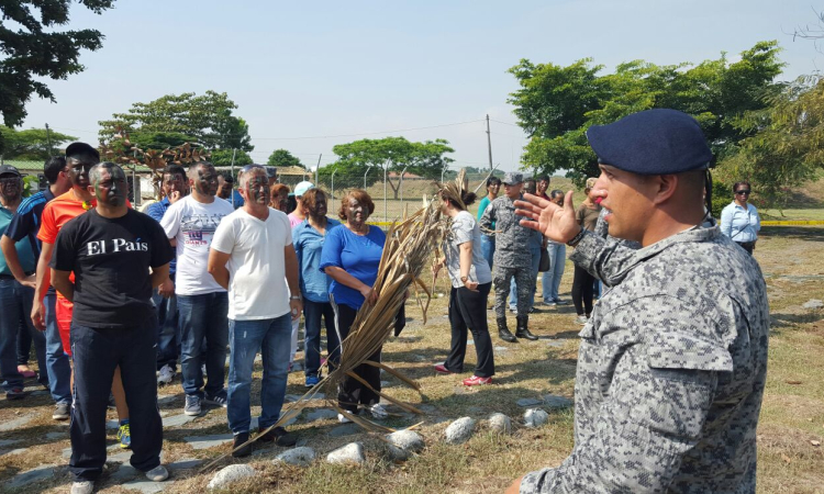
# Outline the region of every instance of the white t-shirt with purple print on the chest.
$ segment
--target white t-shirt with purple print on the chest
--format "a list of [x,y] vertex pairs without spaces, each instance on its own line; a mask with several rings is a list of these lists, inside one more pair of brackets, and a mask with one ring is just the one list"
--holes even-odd
[[177,240],[177,271],[175,293],[178,295],[202,295],[225,292],[209,274],[209,246],[214,231],[224,216],[234,212],[232,204],[215,198],[203,204],[191,195],[171,204],[163,215],[160,226],[166,236]]

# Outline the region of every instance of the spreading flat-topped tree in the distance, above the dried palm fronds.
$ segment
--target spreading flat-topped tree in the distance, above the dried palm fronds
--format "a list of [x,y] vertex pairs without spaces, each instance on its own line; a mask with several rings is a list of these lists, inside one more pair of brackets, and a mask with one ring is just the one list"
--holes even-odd
[[[348,144],[338,144],[332,150],[339,157],[337,161],[320,170],[323,177],[331,177],[337,170],[335,179],[342,187],[358,187],[368,168],[383,168],[387,171],[400,173],[415,173],[431,179],[441,179],[441,172],[447,168],[453,158],[445,156],[455,153],[445,139],[416,143],[404,137],[383,137],[382,139],[360,139]],[[372,183],[377,173],[372,176]],[[400,175],[398,181],[387,178],[394,199],[398,199]]]

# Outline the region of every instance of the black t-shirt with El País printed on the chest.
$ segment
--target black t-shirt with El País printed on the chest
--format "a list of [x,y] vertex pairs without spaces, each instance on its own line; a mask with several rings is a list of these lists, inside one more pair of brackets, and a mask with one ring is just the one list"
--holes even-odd
[[154,315],[148,268],[174,257],[152,217],[130,209],[125,216],[107,218],[91,210],[60,229],[51,266],[75,272],[74,323],[121,328]]

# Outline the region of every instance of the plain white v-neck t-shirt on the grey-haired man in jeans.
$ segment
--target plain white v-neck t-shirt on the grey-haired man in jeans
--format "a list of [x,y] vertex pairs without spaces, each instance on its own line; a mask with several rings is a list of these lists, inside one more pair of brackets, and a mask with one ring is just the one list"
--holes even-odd
[[221,222],[212,248],[230,255],[230,319],[272,319],[289,313],[283,249],[290,245],[289,218],[272,207],[266,221],[240,209]]

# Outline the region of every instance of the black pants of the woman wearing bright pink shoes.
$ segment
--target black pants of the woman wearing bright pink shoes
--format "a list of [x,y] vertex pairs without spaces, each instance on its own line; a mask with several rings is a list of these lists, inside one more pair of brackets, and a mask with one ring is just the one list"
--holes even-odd
[[475,353],[478,364],[475,375],[491,378],[495,373],[492,357],[492,338],[489,337],[487,324],[487,299],[492,283],[478,285],[474,292],[467,288],[453,288],[449,293],[449,324],[452,325],[452,348],[446,358],[445,367],[453,372],[464,372],[466,357],[467,328],[472,332]]

